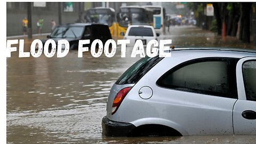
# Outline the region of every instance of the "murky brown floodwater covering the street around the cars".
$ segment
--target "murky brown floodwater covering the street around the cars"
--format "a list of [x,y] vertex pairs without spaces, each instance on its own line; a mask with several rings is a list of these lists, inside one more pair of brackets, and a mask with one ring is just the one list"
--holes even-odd
[[[44,39],[45,36],[34,37]],[[196,27],[172,27],[162,39],[175,46],[224,46],[256,49],[236,38],[220,36]],[[17,38],[23,39],[23,37]],[[25,39],[25,50],[31,41]],[[191,136],[108,138],[101,134],[106,100],[117,78],[139,58],[93,58],[69,51],[65,58],[7,59],[7,142],[8,143],[256,143],[255,136]]]

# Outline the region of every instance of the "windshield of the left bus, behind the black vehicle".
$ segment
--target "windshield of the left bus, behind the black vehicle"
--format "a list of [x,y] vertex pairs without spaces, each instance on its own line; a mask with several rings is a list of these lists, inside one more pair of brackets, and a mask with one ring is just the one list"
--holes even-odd
[[86,22],[105,24],[110,27],[114,17],[108,9],[91,9],[87,11],[85,20]]

